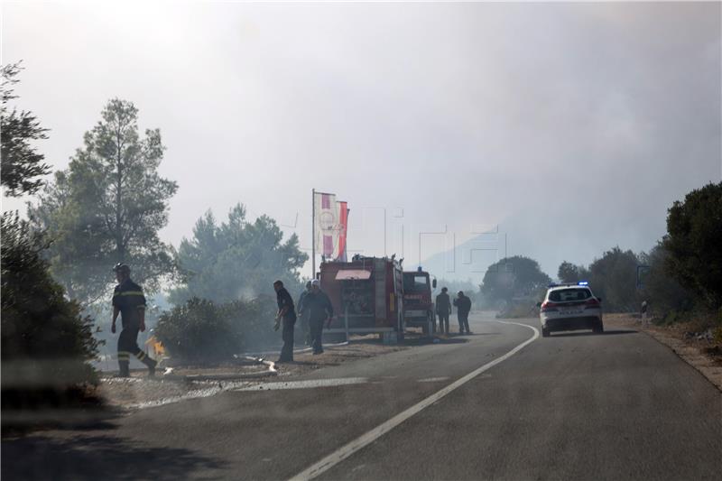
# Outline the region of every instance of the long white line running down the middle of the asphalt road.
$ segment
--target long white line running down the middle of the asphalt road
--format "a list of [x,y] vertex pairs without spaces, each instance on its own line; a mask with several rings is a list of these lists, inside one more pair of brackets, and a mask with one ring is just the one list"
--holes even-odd
[[444,387],[440,391],[431,394],[426,399],[422,400],[421,402],[417,402],[412,407],[407,409],[404,412],[401,412],[399,414],[396,414],[388,421],[385,421],[382,424],[379,424],[376,426],[373,430],[370,430],[366,432],[366,434],[361,435],[359,438],[356,438],[349,442],[346,446],[341,447],[340,449],[337,449],[336,451],[332,452],[327,456],[326,458],[321,459],[319,462],[313,464],[310,467],[307,467],[301,473],[297,474],[296,476],[292,477],[292,481],[297,480],[306,480],[306,479],[313,479],[316,476],[319,476],[323,474],[324,472],[328,471],[331,467],[334,467],[338,465],[341,461],[348,458],[352,454],[354,454],[359,449],[365,448],[372,442],[374,442],[376,439],[381,438],[389,432],[390,430],[393,430],[396,426],[401,424],[403,421],[406,421],[407,419],[411,418],[414,414],[421,412],[424,408],[429,407],[434,402],[439,401],[441,398],[446,396],[447,394],[451,393],[452,391],[456,390],[458,387],[467,384],[469,381],[477,377],[477,375],[480,375],[484,371],[494,367],[495,365],[505,361],[511,356],[514,356],[514,354],[521,351],[524,347],[531,344],[534,340],[539,338],[539,330],[537,328],[534,328],[532,326],[527,326],[526,324],[521,324],[519,322],[511,322],[511,321],[504,321],[504,320],[492,320],[490,322],[499,322],[502,324],[515,324],[516,326],[523,326],[524,328],[530,328],[532,331],[534,331],[534,335],[531,338],[528,338],[525,340],[522,344],[520,344],[517,347],[514,347],[511,351],[504,354],[504,356],[497,357],[495,360],[486,363],[485,365],[482,365],[481,367],[477,367],[474,371],[470,372],[469,374],[465,375],[464,377],[461,377],[457,381],[454,381],[453,383],[449,384],[448,386]]

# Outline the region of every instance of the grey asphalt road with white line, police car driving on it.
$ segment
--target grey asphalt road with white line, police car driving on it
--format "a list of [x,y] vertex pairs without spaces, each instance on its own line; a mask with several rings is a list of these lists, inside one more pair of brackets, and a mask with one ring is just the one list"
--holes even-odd
[[3,479],[719,478],[722,394],[670,349],[517,322],[4,441]]

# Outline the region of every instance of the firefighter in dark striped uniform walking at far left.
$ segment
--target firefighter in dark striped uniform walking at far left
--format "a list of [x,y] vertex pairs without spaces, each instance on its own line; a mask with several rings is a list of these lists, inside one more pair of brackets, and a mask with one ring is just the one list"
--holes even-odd
[[113,268],[116,272],[116,290],[113,292],[113,323],[110,332],[116,333],[116,320],[121,315],[123,330],[118,337],[118,366],[120,377],[130,376],[130,356],[136,356],[139,361],[148,366],[148,375],[155,375],[155,365],[158,363],[140,347],[138,347],[138,331],[145,331],[145,296],[141,286],[131,281],[130,267],[118,263]]

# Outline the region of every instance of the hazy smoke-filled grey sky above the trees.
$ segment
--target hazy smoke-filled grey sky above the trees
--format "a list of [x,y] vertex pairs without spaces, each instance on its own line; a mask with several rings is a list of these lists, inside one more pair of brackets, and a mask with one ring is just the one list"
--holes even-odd
[[387,254],[499,224],[553,277],[649,249],[673,200],[722,177],[719,3],[2,8],[54,167],[111,97],[160,127],[173,245],[242,202],[310,247],[316,188],[348,201],[350,249],[384,254],[385,208]]

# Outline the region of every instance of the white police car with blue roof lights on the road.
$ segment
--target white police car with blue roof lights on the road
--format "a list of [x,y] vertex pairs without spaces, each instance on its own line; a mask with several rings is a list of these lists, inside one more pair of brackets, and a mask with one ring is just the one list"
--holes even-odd
[[555,330],[592,329],[604,332],[602,300],[589,289],[588,282],[552,284],[544,301],[537,304],[542,336]]

